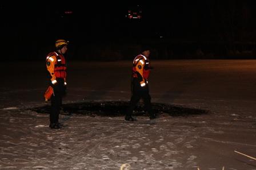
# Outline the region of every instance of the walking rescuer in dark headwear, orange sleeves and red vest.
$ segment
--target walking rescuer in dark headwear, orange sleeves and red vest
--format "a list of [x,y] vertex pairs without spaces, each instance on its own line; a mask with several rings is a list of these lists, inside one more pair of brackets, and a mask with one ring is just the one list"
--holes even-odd
[[142,98],[145,104],[146,110],[149,113],[150,119],[155,119],[156,115],[151,107],[151,97],[149,95],[149,74],[151,71],[149,63],[150,49],[145,46],[142,47],[141,54],[136,56],[133,60],[133,69],[131,74],[131,92],[130,106],[127,109],[125,120],[136,121],[131,116],[135,106]]

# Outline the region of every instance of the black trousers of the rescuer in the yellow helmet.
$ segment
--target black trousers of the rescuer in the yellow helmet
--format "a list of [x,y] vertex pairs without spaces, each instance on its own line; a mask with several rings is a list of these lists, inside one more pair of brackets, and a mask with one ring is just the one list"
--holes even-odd
[[65,94],[63,78],[57,78],[57,84],[53,86],[54,94],[51,96],[50,123],[59,122],[59,111],[61,110],[62,97]]

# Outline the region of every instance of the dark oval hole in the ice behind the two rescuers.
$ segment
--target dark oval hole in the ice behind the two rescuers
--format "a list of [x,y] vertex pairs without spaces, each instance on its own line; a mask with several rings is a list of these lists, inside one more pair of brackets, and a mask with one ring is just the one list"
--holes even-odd
[[[115,117],[125,115],[129,102],[126,101],[102,101],[102,102],[78,102],[78,103],[66,103],[62,105],[61,114],[84,114],[91,116],[107,116]],[[207,110],[191,109],[188,107],[167,105],[163,103],[152,103],[153,110],[156,114],[161,115],[163,113],[171,116],[187,116],[206,114]],[[42,107],[34,107],[30,110],[37,113],[50,113],[50,105]],[[148,116],[148,113],[143,105],[143,102],[139,102],[134,109],[133,115]]]

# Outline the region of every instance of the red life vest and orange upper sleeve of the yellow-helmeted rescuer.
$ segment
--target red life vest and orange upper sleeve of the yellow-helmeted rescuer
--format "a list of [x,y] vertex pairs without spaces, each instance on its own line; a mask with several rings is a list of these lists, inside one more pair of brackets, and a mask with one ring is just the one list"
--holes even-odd
[[[52,69],[50,69],[49,64],[52,64],[51,67],[54,65],[54,73],[52,72]],[[46,57],[46,65],[51,77],[66,78],[66,60],[63,55],[57,52],[50,52]]]

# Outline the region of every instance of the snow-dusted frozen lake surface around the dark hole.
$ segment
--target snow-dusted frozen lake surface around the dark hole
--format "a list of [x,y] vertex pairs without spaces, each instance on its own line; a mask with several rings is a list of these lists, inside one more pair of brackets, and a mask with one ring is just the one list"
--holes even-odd
[[[73,61],[61,130],[48,127],[45,63],[1,63],[0,169],[256,169],[234,152],[256,157],[256,60],[151,62],[155,108],[184,114],[149,121],[137,110],[138,121],[125,122],[131,61]],[[86,112],[89,103],[117,103],[119,112]]]

